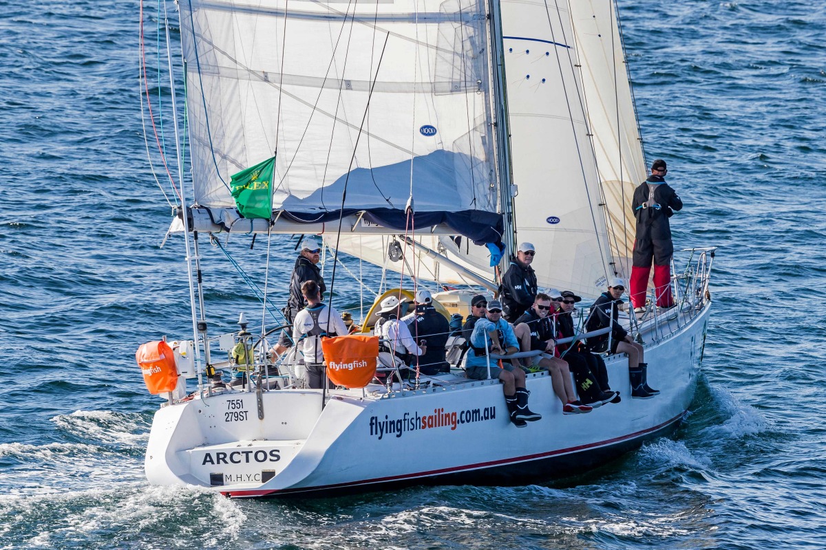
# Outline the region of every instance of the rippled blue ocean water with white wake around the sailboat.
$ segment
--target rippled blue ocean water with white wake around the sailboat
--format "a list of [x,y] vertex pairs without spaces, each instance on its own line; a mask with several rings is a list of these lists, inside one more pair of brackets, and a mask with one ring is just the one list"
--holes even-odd
[[[686,202],[676,244],[720,247],[676,439],[572,482],[306,501],[145,482],[158,401],[134,352],[191,324],[183,242],[159,248],[169,208],[141,131],[138,4],[0,11],[0,548],[826,548],[823,2],[621,4],[648,161],[667,159]],[[172,143],[169,119],[160,131]],[[263,280],[266,242],[234,240]],[[287,238],[272,247],[292,256]],[[231,330],[260,308],[202,248],[213,332]],[[358,286],[338,299],[357,305]]]

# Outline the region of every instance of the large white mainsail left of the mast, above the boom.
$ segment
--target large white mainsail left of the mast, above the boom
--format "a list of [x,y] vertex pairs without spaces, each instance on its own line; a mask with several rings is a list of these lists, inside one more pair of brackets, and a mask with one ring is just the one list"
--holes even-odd
[[197,204],[278,149],[273,209],[496,212],[484,2],[180,5]]

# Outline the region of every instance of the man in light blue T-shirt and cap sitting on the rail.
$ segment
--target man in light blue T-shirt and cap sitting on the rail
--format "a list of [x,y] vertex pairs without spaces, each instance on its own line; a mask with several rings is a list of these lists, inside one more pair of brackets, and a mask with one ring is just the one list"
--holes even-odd
[[[504,342],[504,348],[502,347]],[[525,388],[525,373],[512,364],[504,364],[488,358],[487,353],[496,355],[512,355],[519,351],[519,342],[516,341],[510,323],[502,318],[502,303],[491,300],[487,303],[485,317],[480,317],[473,327],[470,336],[470,350],[465,362],[468,378],[484,380],[490,369],[491,378],[502,381],[502,391],[505,393],[505,403],[510,414],[510,421],[519,428],[526,422],[538,421],[541,415],[528,408],[529,392]]]

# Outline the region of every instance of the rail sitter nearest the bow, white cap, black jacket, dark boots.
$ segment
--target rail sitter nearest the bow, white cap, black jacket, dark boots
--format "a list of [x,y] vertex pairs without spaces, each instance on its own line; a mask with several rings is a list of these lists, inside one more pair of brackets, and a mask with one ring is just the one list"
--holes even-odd
[[586,330],[591,332],[608,327],[611,327],[611,330],[609,333],[600,336],[591,336],[587,340],[587,346],[589,350],[595,353],[607,351],[610,355],[628,354],[631,397],[648,399],[648,397],[654,397],[659,392],[648,387],[648,364],[644,362],[643,346],[635,342],[631,335],[619,326],[619,305],[624,303],[621,299],[624,292],[623,280],[617,277],[609,281],[608,290],[602,293],[596,299],[596,302],[591,305]]

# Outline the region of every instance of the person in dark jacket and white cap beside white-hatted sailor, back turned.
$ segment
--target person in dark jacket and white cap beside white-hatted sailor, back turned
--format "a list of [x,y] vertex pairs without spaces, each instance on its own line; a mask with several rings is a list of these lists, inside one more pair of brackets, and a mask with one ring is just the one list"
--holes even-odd
[[424,341],[427,343],[427,351],[419,355],[411,367],[418,365],[420,373],[426,376],[449,373],[450,365],[444,360],[444,346],[448,343],[450,323],[447,317],[436,311],[430,290],[422,289],[415,293],[415,311],[401,317],[401,320],[407,323],[416,343],[420,346]]

